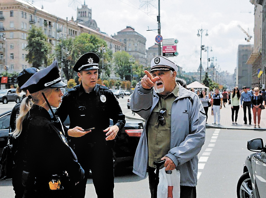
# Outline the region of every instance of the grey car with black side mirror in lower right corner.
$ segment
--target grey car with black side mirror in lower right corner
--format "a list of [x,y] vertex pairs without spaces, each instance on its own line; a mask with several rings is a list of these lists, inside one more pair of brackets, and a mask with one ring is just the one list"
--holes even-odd
[[256,153],[246,158],[243,174],[238,180],[236,194],[238,198],[266,197],[266,145],[256,138],[247,142],[247,149]]

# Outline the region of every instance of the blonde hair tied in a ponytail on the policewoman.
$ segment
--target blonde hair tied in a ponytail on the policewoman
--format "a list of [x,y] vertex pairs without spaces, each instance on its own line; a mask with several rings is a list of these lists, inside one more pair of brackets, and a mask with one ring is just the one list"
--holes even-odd
[[14,138],[17,138],[21,134],[23,121],[25,120],[25,117],[31,109],[32,105],[38,104],[41,107],[44,107],[46,105],[46,101],[43,98],[42,92],[45,94],[47,100],[49,100],[55,89],[56,88],[47,87],[43,90],[30,94],[32,100],[29,99],[29,96],[25,97],[22,100],[20,104],[20,115],[16,121],[16,129],[11,133]]

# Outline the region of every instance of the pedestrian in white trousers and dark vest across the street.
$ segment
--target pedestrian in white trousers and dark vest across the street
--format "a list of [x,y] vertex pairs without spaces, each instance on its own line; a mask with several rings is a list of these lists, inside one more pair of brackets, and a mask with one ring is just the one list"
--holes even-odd
[[212,96],[212,108],[213,108],[213,124],[216,124],[216,116],[218,125],[220,125],[220,109],[222,109],[223,106],[223,95],[220,94],[219,89],[215,89],[215,93]]

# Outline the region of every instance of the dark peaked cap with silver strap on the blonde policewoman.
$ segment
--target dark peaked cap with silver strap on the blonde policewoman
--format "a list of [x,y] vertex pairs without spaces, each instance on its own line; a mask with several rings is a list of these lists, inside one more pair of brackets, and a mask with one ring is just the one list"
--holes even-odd
[[61,79],[57,60],[55,60],[50,66],[33,74],[20,89],[29,90],[30,94],[32,94],[46,87],[58,88],[67,86]]

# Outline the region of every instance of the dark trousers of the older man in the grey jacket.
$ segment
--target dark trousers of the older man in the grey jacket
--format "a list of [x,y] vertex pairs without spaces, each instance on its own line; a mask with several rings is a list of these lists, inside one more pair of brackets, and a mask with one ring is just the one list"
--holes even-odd
[[[154,192],[154,181],[155,181],[155,168],[148,166],[148,176],[149,176],[149,185],[150,185],[150,194],[153,198]],[[196,186],[181,186],[180,185],[180,198],[196,198]]]

